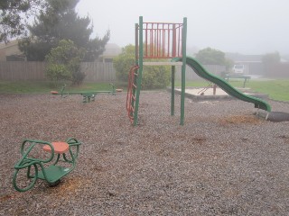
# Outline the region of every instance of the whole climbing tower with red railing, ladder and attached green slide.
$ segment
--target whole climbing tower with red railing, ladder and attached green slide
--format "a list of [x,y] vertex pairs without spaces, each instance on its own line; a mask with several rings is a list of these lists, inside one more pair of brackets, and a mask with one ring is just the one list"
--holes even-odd
[[[200,77],[219,85],[226,93],[248,103],[254,103],[258,109],[271,112],[271,106],[265,101],[256,97],[243,94],[238,89],[229,85],[226,80],[210,74],[194,58],[186,56],[187,40],[187,18],[183,18],[183,23],[144,23],[143,17],[139,17],[139,23],[135,23],[135,66],[129,71],[126,111],[131,123],[137,125],[137,114],[139,109],[139,97],[142,85],[142,75],[144,66],[172,66],[171,76],[171,115],[174,115],[174,79],[175,66],[182,66],[181,78],[181,120],[184,124],[184,99],[185,99],[185,72],[186,65]],[[168,58],[167,62],[145,62],[147,58],[162,59]]]

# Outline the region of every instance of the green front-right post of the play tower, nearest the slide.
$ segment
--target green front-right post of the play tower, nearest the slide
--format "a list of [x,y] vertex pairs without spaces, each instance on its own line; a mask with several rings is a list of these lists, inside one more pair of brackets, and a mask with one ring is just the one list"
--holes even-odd
[[181,94],[181,122],[180,124],[183,125],[184,123],[184,97],[185,97],[185,90],[186,90],[186,44],[187,40],[187,18],[183,18],[183,26],[182,26],[182,94]]

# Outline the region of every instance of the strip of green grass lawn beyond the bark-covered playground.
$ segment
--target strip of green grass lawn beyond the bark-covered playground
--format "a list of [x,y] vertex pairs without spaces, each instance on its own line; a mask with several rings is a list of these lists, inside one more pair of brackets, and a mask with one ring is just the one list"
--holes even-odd
[[[230,85],[234,87],[241,87],[243,85],[242,80],[230,80]],[[115,83],[117,88],[122,88],[126,91],[126,83]],[[181,86],[181,82],[177,81],[176,86]],[[209,82],[200,81],[189,81],[186,82],[186,87],[206,87],[210,85]],[[258,93],[269,94],[269,97],[278,101],[289,102],[289,79],[275,79],[275,80],[249,80],[246,87],[251,88],[253,91]],[[60,87],[52,87],[50,82],[29,82],[29,81],[0,81],[0,94],[49,94],[51,90],[59,91]],[[106,91],[110,90],[109,83],[85,83],[82,85],[69,86],[67,91]]]

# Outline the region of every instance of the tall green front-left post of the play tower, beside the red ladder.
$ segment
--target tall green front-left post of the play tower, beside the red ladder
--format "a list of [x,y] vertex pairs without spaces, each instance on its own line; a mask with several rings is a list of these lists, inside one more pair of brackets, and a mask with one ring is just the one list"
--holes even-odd
[[143,16],[139,17],[139,40],[138,40],[138,76],[136,80],[136,94],[135,94],[135,112],[134,112],[134,126],[137,124],[137,112],[139,104],[139,94],[141,92],[142,76],[143,76],[143,62],[144,62],[144,42],[143,42]]

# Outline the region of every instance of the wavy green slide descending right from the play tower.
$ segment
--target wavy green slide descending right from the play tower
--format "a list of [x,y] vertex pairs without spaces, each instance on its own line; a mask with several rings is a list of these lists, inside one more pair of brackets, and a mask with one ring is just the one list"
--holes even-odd
[[[182,58],[173,58],[172,61],[182,61]],[[248,103],[254,103],[256,108],[271,112],[271,106],[268,103],[259,98],[241,93],[232,85],[229,85],[228,82],[226,82],[224,79],[220,78],[219,76],[210,74],[204,67],[200,65],[200,63],[196,59],[187,57],[186,64],[191,67],[198,76],[219,85],[219,87],[223,89],[226,93],[238,98],[239,100]]]

